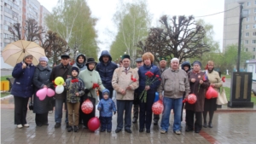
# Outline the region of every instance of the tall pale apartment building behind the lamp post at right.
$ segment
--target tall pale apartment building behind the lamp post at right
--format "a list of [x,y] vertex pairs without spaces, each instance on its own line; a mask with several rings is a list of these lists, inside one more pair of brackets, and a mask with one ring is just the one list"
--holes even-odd
[[[248,0],[243,3],[243,9],[247,10],[247,17],[241,24],[241,45],[253,56],[248,60],[256,59],[256,0]],[[224,37],[223,49],[230,44],[238,43],[239,13],[240,7],[237,0],[224,1]]]

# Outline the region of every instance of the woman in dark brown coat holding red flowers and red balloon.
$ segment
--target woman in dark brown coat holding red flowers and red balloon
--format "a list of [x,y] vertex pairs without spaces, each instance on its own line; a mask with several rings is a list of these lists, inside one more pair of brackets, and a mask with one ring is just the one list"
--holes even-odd
[[[193,63],[193,72],[188,73],[190,94],[195,94],[197,101],[195,104],[186,102],[186,131],[195,129],[195,133],[199,133],[202,127],[202,112],[204,111],[205,93],[210,83],[205,72],[201,72],[201,62],[195,60]],[[195,115],[195,124],[194,124]]]

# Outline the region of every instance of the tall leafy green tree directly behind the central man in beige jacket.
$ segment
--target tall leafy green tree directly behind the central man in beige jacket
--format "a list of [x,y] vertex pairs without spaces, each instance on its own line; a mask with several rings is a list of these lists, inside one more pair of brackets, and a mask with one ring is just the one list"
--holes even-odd
[[137,43],[148,35],[150,15],[147,3],[138,0],[135,3],[120,3],[119,10],[114,14],[113,21],[118,27],[117,35],[110,47],[113,59],[119,55],[131,56],[131,61],[137,58]]

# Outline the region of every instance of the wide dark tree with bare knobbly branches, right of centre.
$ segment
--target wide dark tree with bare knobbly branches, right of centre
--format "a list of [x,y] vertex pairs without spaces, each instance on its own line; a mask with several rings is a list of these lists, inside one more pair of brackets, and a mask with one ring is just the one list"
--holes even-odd
[[160,27],[150,28],[145,42],[137,44],[143,51],[150,51],[155,57],[177,57],[180,62],[199,57],[210,50],[203,41],[206,31],[191,15],[173,16],[168,19],[166,15],[160,18]]

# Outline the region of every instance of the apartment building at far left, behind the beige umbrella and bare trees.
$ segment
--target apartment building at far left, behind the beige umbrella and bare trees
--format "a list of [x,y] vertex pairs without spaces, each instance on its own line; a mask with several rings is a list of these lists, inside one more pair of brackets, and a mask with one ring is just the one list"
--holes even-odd
[[[38,21],[39,26],[47,30],[44,18],[49,14],[38,0],[1,0],[1,20],[0,20],[0,47],[1,51],[9,43],[13,42],[12,35],[9,32],[9,26],[20,23],[21,27],[26,25],[26,20],[34,19]],[[25,32],[21,31],[21,37],[25,37]],[[1,55],[1,68],[12,68],[3,62]]]

